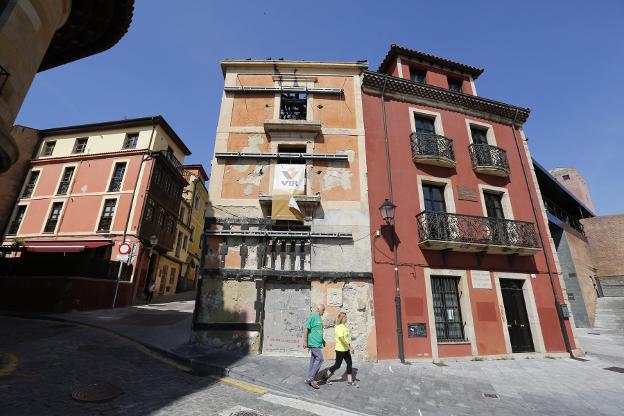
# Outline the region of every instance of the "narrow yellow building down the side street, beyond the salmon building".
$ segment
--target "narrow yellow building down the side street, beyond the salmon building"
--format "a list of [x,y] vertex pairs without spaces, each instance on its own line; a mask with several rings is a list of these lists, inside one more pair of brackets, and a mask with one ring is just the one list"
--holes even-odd
[[173,249],[160,257],[156,273],[156,296],[169,295],[196,288],[201,256],[201,235],[208,191],[208,175],[202,165],[185,165],[187,185],[182,191],[176,221]]

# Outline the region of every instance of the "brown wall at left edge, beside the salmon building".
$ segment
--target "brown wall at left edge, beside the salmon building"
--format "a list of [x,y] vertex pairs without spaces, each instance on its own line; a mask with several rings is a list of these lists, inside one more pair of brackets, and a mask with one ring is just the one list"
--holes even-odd
[[[0,173],[0,236],[4,238],[11,219],[16,198],[28,173],[30,160],[39,144],[39,131],[24,126],[14,126],[11,135],[19,148],[19,158],[9,170]],[[0,240],[2,240],[0,238]]]

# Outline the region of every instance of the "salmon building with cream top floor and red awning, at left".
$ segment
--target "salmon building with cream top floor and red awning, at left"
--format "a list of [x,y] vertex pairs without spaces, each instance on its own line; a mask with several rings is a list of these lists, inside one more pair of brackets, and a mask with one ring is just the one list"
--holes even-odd
[[[41,130],[4,232],[4,305],[110,307],[143,295],[173,248],[189,149],[160,116]],[[133,246],[120,273],[119,244]],[[43,284],[45,283],[45,284]],[[32,287],[29,287],[28,285]]]

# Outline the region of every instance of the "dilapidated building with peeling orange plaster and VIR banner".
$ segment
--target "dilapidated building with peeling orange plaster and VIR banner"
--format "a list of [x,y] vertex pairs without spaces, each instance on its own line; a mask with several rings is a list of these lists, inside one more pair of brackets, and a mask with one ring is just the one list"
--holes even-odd
[[361,75],[366,62],[227,60],[195,338],[301,355],[312,305],[374,359]]

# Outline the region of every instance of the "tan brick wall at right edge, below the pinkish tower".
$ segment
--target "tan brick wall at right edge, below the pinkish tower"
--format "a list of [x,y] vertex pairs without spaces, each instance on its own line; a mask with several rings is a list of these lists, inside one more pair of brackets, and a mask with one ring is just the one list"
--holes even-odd
[[598,277],[624,276],[624,215],[582,220]]

